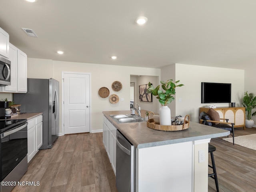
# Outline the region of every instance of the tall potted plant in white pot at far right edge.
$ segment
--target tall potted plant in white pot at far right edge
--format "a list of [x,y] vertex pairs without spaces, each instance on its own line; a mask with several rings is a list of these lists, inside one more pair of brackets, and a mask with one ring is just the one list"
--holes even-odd
[[252,109],[256,108],[256,96],[254,97],[253,93],[248,94],[248,92],[246,91],[242,99],[242,104],[245,107],[246,111],[245,126],[247,128],[252,128],[252,126],[254,125],[254,120],[252,120],[252,116],[256,115],[256,112],[252,113]]

